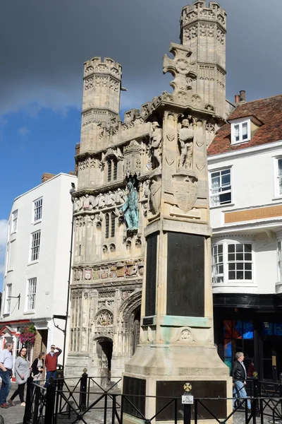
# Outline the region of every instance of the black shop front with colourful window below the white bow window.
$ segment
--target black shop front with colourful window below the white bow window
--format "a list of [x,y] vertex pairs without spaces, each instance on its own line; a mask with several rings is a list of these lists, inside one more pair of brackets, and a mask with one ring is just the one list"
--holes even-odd
[[214,341],[232,367],[245,354],[247,376],[278,382],[282,373],[282,302],[279,295],[214,295]]

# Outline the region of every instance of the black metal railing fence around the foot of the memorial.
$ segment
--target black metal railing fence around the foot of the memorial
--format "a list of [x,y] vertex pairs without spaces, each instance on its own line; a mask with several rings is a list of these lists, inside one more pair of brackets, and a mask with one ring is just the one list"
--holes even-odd
[[[145,424],[152,421],[171,420],[175,424],[190,424],[194,420],[214,419],[218,423],[232,421],[234,414],[241,414],[245,423],[275,423],[282,420],[281,384],[269,391],[263,382],[254,379],[249,382],[248,398],[237,398],[235,408],[228,416],[222,412],[222,404],[227,398],[197,398],[192,405],[181,404],[181,396],[159,396],[156,399],[157,410],[154,416],[145,416],[145,397],[136,394],[121,394],[118,383],[121,377],[108,387],[102,387],[98,377],[82,375],[75,385],[73,379],[56,379],[50,381],[47,389],[27,380],[27,396],[23,424],[123,424],[125,414],[140,418]],[[231,398],[228,398],[231,399]],[[251,408],[247,408],[247,400]],[[242,418],[240,419],[242,422]]]

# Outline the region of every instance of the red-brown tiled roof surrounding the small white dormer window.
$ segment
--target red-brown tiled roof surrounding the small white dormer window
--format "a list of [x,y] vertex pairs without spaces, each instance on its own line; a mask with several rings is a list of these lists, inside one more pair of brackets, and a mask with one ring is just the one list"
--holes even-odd
[[262,126],[257,129],[250,141],[231,146],[231,124],[225,124],[217,131],[207,154],[219,155],[282,140],[282,95],[238,105],[229,115],[228,121],[247,116],[255,116],[262,121]]

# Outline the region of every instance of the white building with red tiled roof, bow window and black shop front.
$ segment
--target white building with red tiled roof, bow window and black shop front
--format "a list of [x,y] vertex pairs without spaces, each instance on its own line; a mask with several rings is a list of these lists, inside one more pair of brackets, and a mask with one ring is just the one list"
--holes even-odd
[[214,331],[231,366],[282,372],[282,96],[245,102],[209,146]]

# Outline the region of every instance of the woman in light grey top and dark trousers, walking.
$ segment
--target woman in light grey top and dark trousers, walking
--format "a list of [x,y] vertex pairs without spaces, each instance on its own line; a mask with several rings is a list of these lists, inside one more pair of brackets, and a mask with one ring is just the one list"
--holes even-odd
[[8,399],[8,403],[11,406],[14,406],[13,399],[16,396],[20,396],[20,406],[25,406],[25,399],[23,397],[25,391],[25,383],[27,382],[27,378],[30,377],[30,363],[26,357],[27,350],[26,348],[21,348],[18,353],[18,358],[15,362],[15,375],[16,375],[16,383],[18,384],[18,389],[16,389],[11,399]]

